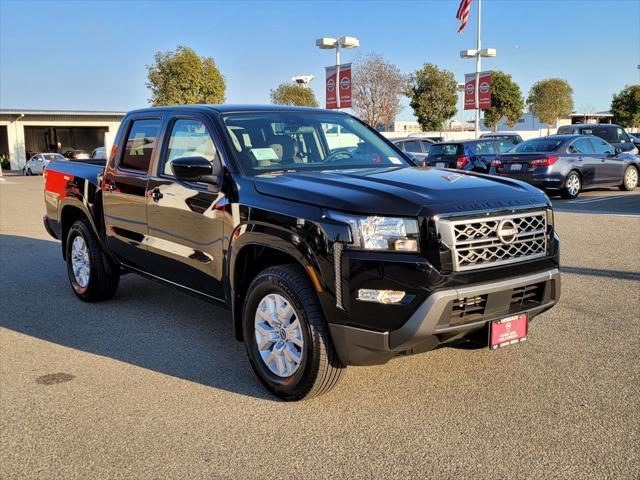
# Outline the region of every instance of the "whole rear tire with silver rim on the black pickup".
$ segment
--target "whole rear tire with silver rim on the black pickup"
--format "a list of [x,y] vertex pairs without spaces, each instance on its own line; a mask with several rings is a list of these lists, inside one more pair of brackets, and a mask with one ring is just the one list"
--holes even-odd
[[113,297],[120,282],[120,271],[108,263],[87,220],[77,220],[71,226],[65,249],[67,274],[73,293],[85,302]]

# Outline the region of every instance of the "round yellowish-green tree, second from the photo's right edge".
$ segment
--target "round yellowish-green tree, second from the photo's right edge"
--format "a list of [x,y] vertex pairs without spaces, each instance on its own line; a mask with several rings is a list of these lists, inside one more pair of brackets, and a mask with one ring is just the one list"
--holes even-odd
[[573,89],[566,80],[547,78],[536,82],[529,90],[527,105],[529,111],[547,124],[547,133],[551,124],[558,118],[565,118],[573,111]]

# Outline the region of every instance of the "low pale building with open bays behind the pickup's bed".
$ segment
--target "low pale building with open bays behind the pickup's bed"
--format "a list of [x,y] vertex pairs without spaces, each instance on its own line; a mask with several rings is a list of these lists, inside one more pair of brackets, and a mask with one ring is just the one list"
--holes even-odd
[[82,110],[0,109],[0,154],[9,158],[12,170],[20,170],[27,155],[79,149],[89,153],[105,145],[125,112]]

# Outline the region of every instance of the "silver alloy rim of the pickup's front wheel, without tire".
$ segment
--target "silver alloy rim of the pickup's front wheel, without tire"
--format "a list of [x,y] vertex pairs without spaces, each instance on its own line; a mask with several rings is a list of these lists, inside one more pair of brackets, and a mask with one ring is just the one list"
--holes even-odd
[[302,363],[302,327],[293,306],[282,295],[262,298],[255,314],[256,346],[267,368],[281,378],[290,377]]

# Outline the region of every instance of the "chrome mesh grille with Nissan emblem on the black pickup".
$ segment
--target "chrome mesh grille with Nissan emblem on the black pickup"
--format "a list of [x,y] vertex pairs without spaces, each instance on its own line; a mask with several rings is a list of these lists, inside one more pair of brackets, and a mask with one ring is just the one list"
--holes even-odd
[[542,257],[547,250],[545,211],[440,219],[441,241],[452,251],[455,271],[493,267]]

